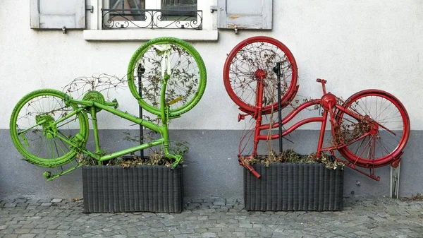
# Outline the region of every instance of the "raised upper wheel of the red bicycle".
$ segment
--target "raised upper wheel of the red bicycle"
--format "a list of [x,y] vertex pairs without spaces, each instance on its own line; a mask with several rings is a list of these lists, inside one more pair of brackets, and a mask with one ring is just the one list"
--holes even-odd
[[271,37],[251,37],[237,44],[226,58],[223,82],[229,97],[241,110],[253,114],[256,105],[257,71],[264,71],[263,113],[278,109],[276,62],[281,62],[281,103],[292,100],[298,69],[288,47]]

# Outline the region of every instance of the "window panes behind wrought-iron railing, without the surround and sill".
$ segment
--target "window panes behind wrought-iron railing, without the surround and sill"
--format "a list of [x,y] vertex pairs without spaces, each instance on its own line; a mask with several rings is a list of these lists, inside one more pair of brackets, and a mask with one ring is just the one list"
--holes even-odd
[[202,29],[197,0],[105,0],[102,29]]

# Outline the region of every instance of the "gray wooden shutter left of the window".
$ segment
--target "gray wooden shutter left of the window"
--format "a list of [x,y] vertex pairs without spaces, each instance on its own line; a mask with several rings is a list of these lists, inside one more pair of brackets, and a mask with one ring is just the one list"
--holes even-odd
[[85,0],[30,0],[32,29],[85,29]]

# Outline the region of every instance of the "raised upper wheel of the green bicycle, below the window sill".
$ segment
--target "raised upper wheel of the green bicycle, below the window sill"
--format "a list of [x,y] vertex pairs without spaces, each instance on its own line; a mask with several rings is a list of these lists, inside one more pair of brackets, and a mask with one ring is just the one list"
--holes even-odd
[[[160,88],[154,88],[153,93],[149,92],[149,90],[151,91],[151,88],[149,90],[143,89],[142,93],[147,93],[147,96],[143,94],[143,96],[140,97],[140,94],[138,93],[138,88],[137,88],[138,85],[136,82],[138,81],[138,79],[137,79],[137,76],[135,76],[135,74],[137,73],[137,70],[139,67],[137,66],[137,62],[142,61],[145,54],[149,54],[149,50],[152,50],[154,48],[154,45],[158,45],[158,44],[170,44],[171,47],[174,47],[172,48],[174,49],[174,51],[171,52],[171,57],[173,56],[173,58],[174,58],[174,55],[176,54],[172,54],[172,53],[178,52],[179,56],[181,56],[180,49],[185,51],[185,53],[183,54],[186,54],[185,57],[187,58],[186,61],[188,62],[188,69],[190,69],[191,57],[196,63],[195,67],[197,69],[191,69],[192,73],[188,73],[184,71],[185,70],[185,68],[183,68],[184,65],[180,65],[185,62],[175,61],[173,59],[171,61],[171,64],[173,65],[171,66],[171,77],[168,79],[168,88],[166,88],[166,103],[170,104],[171,101],[177,100],[178,97],[182,98],[182,100],[179,100],[179,102],[171,105],[169,109],[169,117],[177,117],[180,114],[188,112],[190,109],[192,109],[192,107],[197,105],[197,103],[200,101],[202,95],[204,94],[204,90],[207,84],[206,67],[204,65],[204,61],[202,60],[202,57],[197,52],[197,50],[194,47],[192,47],[191,44],[188,44],[188,42],[185,42],[183,40],[179,40],[174,37],[159,37],[159,38],[150,40],[149,42],[146,42],[145,44],[142,44],[142,46],[135,51],[135,53],[130,59],[130,62],[128,65],[128,85],[130,88],[130,92],[137,99],[138,104],[142,108],[146,109],[148,112],[151,112],[152,114],[156,114],[156,115],[161,114],[160,104],[157,102],[159,101],[159,97],[160,97]],[[145,65],[147,64],[154,65],[154,63],[151,63],[151,62],[149,63],[143,62],[143,63]],[[153,67],[154,66],[152,66],[152,68]],[[186,77],[184,76],[184,74]],[[156,81],[156,83],[161,82],[161,75],[158,69],[150,69],[150,71],[145,69],[145,75],[147,75],[147,77],[150,77],[150,78],[147,78],[146,81],[142,81],[142,82],[146,82],[145,85],[147,86],[145,87],[148,87],[147,83],[152,83],[154,81]],[[192,76],[192,78],[190,78],[190,76]],[[158,79],[159,79],[159,82],[157,82]],[[179,86],[180,81],[177,81],[178,79],[182,79],[182,84],[183,84],[182,88],[185,87],[183,88],[185,92],[183,91],[182,93],[175,93],[175,95],[177,96],[175,98],[168,97],[168,95],[171,95],[172,84],[175,86],[173,88],[174,91],[176,91],[176,87],[177,87],[176,85],[180,87]],[[190,81],[191,83],[188,83],[188,85],[185,85],[186,82],[183,83],[184,80]],[[194,90],[190,89],[191,87],[190,84],[191,85],[197,84]],[[180,88],[178,88],[178,90],[180,90]],[[148,95],[148,93],[150,95]],[[183,95],[184,93],[187,95]]]

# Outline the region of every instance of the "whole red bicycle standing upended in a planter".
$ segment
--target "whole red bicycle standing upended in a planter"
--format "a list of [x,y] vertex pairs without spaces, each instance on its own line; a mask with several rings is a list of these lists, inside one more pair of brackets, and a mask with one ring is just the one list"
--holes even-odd
[[[281,138],[302,125],[320,122],[317,157],[325,152],[330,153],[336,160],[377,181],[380,178],[374,175],[374,168],[398,166],[410,136],[410,119],[400,100],[383,90],[362,90],[344,102],[332,93],[326,93],[326,81],[318,78],[317,82],[321,83],[323,89],[321,98],[306,100],[283,119],[278,117],[278,121],[271,120],[269,124],[262,124],[264,115],[273,114],[290,105],[298,92],[297,79],[298,69],[293,54],[288,47],[271,37],[248,38],[228,54],[223,81],[228,95],[245,112],[239,114],[238,121],[247,116],[256,120],[252,132],[252,154],[242,155],[243,148],[240,145],[240,165],[249,169],[255,177],[260,177],[245,161],[257,156],[259,141]],[[280,93],[274,93],[278,83]],[[320,117],[302,119],[281,133],[272,133],[271,129],[287,124],[309,107],[321,107],[323,113]],[[324,146],[328,120],[332,143]],[[270,130],[270,133],[262,134],[265,130]],[[346,161],[336,156],[335,150]],[[370,172],[357,167],[370,169]]]

